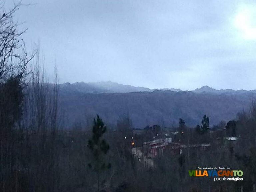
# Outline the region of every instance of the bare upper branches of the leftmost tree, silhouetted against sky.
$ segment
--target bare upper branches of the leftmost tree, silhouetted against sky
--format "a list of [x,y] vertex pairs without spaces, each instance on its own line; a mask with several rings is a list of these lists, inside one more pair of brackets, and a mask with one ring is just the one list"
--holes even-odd
[[27,29],[19,31],[20,24],[13,20],[21,2],[14,4],[7,12],[2,1],[0,6],[0,82],[5,82],[11,76],[17,76],[21,80],[27,73],[27,64],[34,57],[34,53],[28,56],[22,39],[22,34]]

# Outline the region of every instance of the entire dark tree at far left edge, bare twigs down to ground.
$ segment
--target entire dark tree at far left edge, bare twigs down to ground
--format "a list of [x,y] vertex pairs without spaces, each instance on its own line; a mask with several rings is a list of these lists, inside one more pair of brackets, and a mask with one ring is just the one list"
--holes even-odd
[[[22,140],[17,130],[22,117],[23,88],[28,56],[19,24],[13,20],[21,2],[5,11],[0,1],[0,191],[18,190],[18,154]],[[15,182],[11,178],[15,178]]]

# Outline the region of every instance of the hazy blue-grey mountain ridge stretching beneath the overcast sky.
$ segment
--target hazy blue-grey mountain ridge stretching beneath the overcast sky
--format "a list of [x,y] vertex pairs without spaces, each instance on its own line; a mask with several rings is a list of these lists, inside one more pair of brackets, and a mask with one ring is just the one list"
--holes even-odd
[[76,123],[89,126],[96,114],[112,127],[118,120],[129,117],[134,128],[153,124],[176,126],[180,117],[187,125],[196,126],[207,114],[212,126],[248,111],[255,98],[255,90],[216,90],[208,86],[181,91],[152,90],[111,81],[60,84],[60,107],[64,110],[66,127]]

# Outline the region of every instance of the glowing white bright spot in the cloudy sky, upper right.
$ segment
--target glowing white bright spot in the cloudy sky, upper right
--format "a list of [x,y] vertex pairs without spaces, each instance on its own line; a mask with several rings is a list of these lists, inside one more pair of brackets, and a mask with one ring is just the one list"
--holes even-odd
[[255,15],[256,8],[244,6],[235,17],[234,24],[245,39],[256,40],[256,26],[253,23]]

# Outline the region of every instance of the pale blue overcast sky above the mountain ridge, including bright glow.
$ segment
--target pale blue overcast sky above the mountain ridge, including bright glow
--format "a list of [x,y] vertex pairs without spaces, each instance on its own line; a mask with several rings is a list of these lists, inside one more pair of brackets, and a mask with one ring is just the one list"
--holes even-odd
[[[5,9],[15,0],[7,0]],[[148,88],[256,89],[256,2],[23,0],[15,20],[49,76]],[[26,4],[30,4],[27,6]]]

